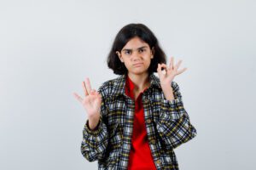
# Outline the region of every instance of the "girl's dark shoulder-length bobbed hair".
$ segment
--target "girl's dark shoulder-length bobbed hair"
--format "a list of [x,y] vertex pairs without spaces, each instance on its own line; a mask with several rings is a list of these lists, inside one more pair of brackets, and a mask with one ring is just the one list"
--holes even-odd
[[154,33],[148,29],[147,26],[143,24],[129,24],[124,26],[116,35],[113,41],[112,48],[108,54],[108,68],[113,70],[114,74],[123,75],[127,73],[125,64],[119,59],[116,51],[121,51],[125,47],[125,44],[131,40],[133,37],[139,37],[143,42],[147,42],[149,48],[154,48],[154,58],[151,59],[151,63],[148,67],[148,73],[157,72],[157,64],[166,64],[166,54],[160,48],[160,44]]

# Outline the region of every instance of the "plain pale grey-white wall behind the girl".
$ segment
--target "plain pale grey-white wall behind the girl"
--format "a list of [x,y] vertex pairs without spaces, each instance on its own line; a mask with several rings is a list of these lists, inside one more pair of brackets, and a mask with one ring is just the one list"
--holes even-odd
[[107,55],[119,29],[148,26],[169,62],[197,136],[181,170],[255,169],[253,1],[3,1],[0,3],[0,169],[96,169],[80,152],[87,118],[73,92],[117,77]]

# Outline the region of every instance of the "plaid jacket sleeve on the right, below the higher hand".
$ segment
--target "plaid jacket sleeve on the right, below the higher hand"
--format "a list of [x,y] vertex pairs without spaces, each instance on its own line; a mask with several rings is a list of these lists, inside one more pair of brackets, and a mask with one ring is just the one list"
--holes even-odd
[[183,107],[182,95],[177,82],[172,82],[174,99],[161,100],[160,122],[156,127],[166,148],[175,149],[196,136],[196,129],[189,121],[189,115]]

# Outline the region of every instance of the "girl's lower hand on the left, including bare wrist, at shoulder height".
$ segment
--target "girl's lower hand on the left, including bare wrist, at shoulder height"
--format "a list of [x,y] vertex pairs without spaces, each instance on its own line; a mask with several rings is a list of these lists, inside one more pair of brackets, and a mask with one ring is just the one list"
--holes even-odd
[[95,89],[91,89],[89,78],[85,78],[85,82],[82,82],[82,87],[84,88],[84,99],[79,94],[73,93],[73,95],[83,105],[88,114],[90,124],[95,125],[100,119],[102,95]]

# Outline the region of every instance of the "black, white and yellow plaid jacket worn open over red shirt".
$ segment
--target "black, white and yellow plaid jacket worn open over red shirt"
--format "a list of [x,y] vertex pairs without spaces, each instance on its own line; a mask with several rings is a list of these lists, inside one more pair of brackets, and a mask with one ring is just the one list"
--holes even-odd
[[[131,150],[135,103],[125,94],[125,76],[104,82],[100,121],[96,129],[83,129],[81,153],[88,161],[98,160],[99,169],[127,169]],[[183,107],[177,82],[172,81],[174,99],[167,100],[160,87],[159,77],[149,75],[150,87],[144,91],[143,109],[148,143],[155,167],[178,170],[175,148],[196,136]]]

